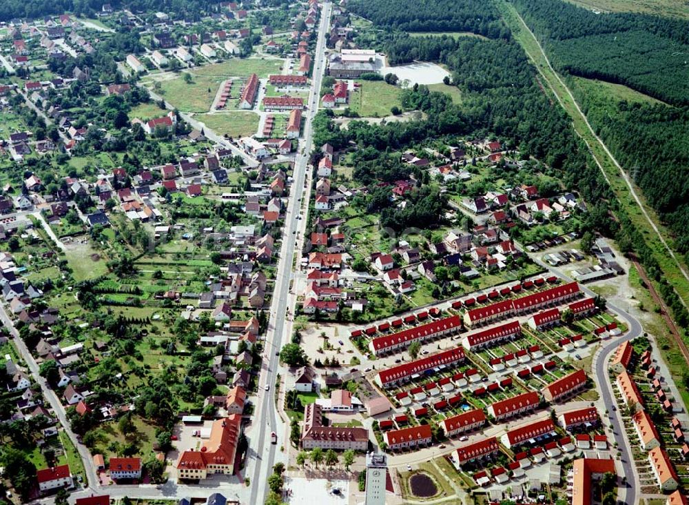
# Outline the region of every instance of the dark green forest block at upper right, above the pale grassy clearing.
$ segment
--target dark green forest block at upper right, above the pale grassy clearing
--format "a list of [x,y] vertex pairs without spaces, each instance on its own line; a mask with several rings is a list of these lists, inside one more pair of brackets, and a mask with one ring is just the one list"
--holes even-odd
[[630,12],[595,14],[561,0],[514,3],[559,70],[689,104],[689,21]]

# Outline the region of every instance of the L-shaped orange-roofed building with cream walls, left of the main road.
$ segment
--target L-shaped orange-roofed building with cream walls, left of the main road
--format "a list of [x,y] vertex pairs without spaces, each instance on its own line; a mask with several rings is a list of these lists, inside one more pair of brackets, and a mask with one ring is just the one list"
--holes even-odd
[[200,450],[185,450],[177,460],[177,479],[205,479],[208,474],[234,474],[234,459],[242,417],[229,415],[213,423],[211,435]]

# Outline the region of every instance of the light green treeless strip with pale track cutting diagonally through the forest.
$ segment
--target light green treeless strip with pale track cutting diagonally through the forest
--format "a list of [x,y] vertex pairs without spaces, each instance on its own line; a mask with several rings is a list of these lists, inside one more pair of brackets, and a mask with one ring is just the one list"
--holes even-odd
[[[649,246],[651,250],[653,250],[659,266],[661,266],[661,268],[664,270],[666,278],[672,284],[673,288],[675,288],[675,291],[679,295],[682,303],[685,306],[688,305],[689,273],[687,273],[685,268],[683,268],[679,262],[679,259],[677,259],[675,252],[672,250],[672,248],[670,248],[664,239],[659,226],[656,224],[656,221],[659,222],[659,220],[657,218],[653,219],[650,217],[649,211],[646,209],[646,206],[644,206],[644,203],[641,201],[641,198],[639,198],[639,195],[637,195],[637,192],[635,191],[635,188],[628,175],[624,171],[624,168],[619,165],[613,154],[610,152],[610,150],[608,150],[608,147],[605,145],[605,143],[598,137],[598,135],[596,135],[595,130],[593,130],[593,128],[590,126],[590,123],[588,123],[586,115],[584,115],[584,112],[582,112],[582,110],[579,108],[579,105],[569,88],[551,66],[551,63],[548,60],[543,48],[531,29],[526,26],[526,23],[524,23],[524,20],[520,14],[505,0],[497,0],[496,3],[500,12],[502,12],[506,23],[513,31],[515,39],[520,42],[528,57],[533,61],[540,75],[542,75],[542,77],[546,80],[548,87],[553,91],[557,101],[568,112],[570,117],[572,117],[575,131],[577,131],[577,134],[586,142],[586,145],[592,153],[596,164],[599,166],[601,172],[603,172],[604,177],[606,177],[606,180],[608,180],[610,186],[613,188],[613,190],[615,190],[617,199],[623,206],[625,206],[630,219],[632,219],[633,222],[637,224],[637,226],[639,226],[641,231],[645,234],[650,235],[650,233],[653,232],[653,234],[656,235],[657,240],[646,235],[646,238],[650,239],[651,241]],[[617,184],[619,183],[619,179],[614,176],[620,174],[625,184]],[[613,177],[608,177],[608,175]],[[613,184],[613,182],[615,184]],[[629,201],[623,197],[627,192],[631,193],[633,201]],[[641,211],[641,215],[644,219],[638,219],[641,217],[639,216],[639,210]],[[652,212],[652,210],[650,212]],[[637,219],[635,219],[635,217]],[[668,252],[673,261],[667,261]],[[680,277],[683,277],[686,282],[681,281]]]

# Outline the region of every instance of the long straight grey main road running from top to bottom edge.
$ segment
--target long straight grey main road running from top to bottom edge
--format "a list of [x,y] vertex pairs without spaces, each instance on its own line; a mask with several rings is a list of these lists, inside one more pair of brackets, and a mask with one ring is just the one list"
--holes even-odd
[[[294,181],[291,185],[289,204],[285,215],[285,228],[280,250],[280,261],[276,274],[276,284],[273,293],[273,303],[270,310],[269,326],[265,340],[265,359],[258,383],[260,400],[256,413],[254,413],[255,428],[248,435],[249,458],[255,459],[254,474],[251,477],[251,499],[249,503],[259,504],[265,502],[268,493],[268,477],[272,473],[276,459],[276,450],[279,446],[289,446],[289,439],[285,440],[286,430],[276,416],[278,406],[274,402],[274,390],[278,375],[279,363],[277,354],[283,341],[289,341],[286,326],[286,314],[289,298],[289,285],[291,281],[292,265],[294,263],[297,242],[297,229],[300,221],[305,221],[305,215],[300,216],[300,209],[307,209],[307,205],[301,205],[301,195],[308,199],[310,188],[304,188],[307,176],[309,155],[313,148],[311,121],[318,111],[320,100],[320,86],[325,71],[325,36],[329,32],[330,14],[332,4],[323,4],[318,30],[318,42],[316,43],[316,56],[313,59],[313,83],[308,101],[308,112],[305,115],[304,140],[300,144],[294,162]],[[304,213],[306,210],[304,210]],[[298,219],[301,217],[302,219]],[[294,308],[293,308],[294,309]],[[269,391],[265,387],[269,387]],[[270,432],[278,434],[278,443],[270,443]],[[247,463],[247,468],[249,468]],[[249,475],[247,469],[247,475]]]

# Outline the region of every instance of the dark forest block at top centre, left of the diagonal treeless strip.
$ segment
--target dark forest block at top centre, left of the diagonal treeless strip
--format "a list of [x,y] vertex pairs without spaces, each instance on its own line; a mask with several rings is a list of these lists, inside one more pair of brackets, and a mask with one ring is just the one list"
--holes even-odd
[[374,24],[408,32],[473,32],[491,39],[509,30],[490,2],[483,0],[352,0],[347,8]]

